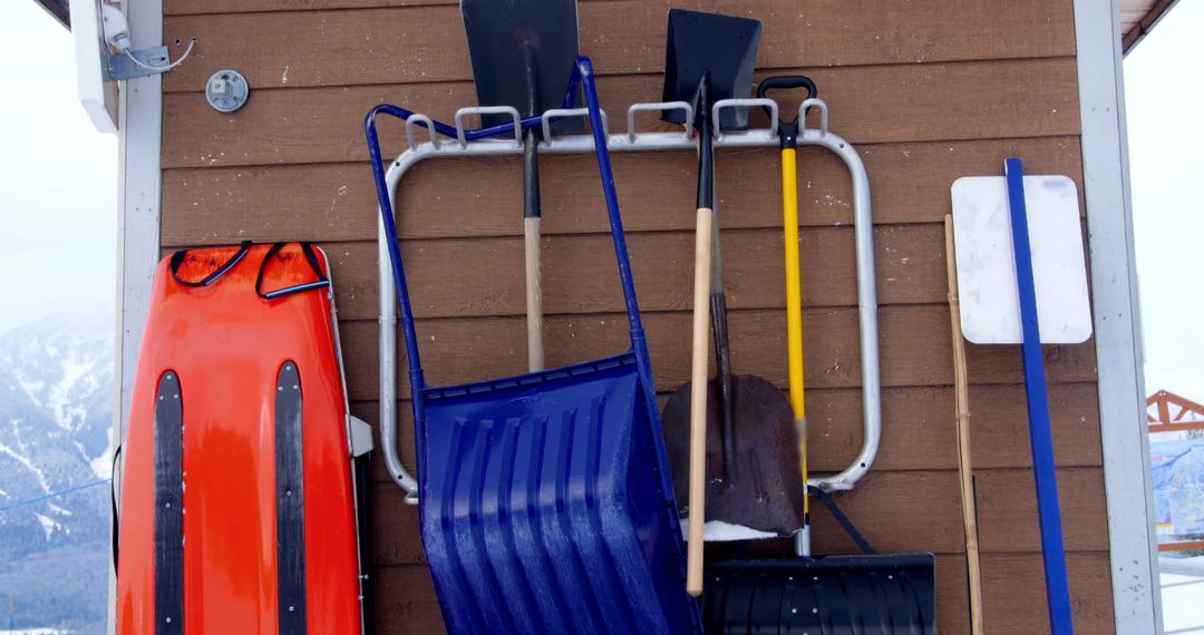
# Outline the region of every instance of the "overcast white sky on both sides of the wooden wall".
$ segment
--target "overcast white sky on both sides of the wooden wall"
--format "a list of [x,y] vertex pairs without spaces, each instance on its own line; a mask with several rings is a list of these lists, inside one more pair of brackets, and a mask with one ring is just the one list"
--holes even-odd
[[[116,298],[117,138],[76,96],[70,34],[35,2],[7,4],[0,100],[0,332]],[[1179,2],[1125,61],[1146,388],[1204,399],[1204,2]],[[13,58],[16,59],[16,58]],[[1185,72],[1186,71],[1186,72]]]

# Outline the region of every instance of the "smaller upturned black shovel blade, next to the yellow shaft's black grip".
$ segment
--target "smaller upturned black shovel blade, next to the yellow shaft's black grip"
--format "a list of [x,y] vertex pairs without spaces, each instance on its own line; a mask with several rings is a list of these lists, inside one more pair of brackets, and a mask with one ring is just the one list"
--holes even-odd
[[[698,83],[710,75],[710,103],[752,96],[752,70],[761,43],[761,20],[669,10],[665,59],[663,101],[686,101],[697,108]],[[703,114],[695,113],[695,119]],[[666,121],[684,124],[681,111],[666,111]],[[748,108],[728,108],[720,115],[721,130],[744,130]]]

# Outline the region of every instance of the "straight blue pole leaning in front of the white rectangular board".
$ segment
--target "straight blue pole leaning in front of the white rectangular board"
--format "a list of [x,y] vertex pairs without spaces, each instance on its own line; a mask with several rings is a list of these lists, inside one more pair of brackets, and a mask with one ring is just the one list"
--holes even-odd
[[1011,244],[1016,255],[1020,325],[1025,336],[1022,349],[1025,393],[1028,400],[1028,435],[1033,446],[1033,474],[1037,481],[1037,510],[1041,527],[1041,559],[1045,564],[1050,630],[1054,635],[1070,635],[1074,633],[1074,619],[1066,574],[1066,550],[1062,545],[1062,512],[1058,509],[1050,403],[1045,392],[1045,361],[1041,357],[1041,333],[1037,321],[1033,254],[1028,242],[1028,215],[1025,207],[1025,171],[1020,159],[1004,161],[1004,174],[1008,180],[1008,207],[1011,212]]

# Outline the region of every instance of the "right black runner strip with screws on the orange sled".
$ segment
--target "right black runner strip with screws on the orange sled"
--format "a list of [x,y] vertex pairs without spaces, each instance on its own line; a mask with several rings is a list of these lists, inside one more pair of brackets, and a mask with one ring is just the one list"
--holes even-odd
[[305,468],[301,374],[284,362],[276,381],[276,560],[281,635],[306,633]]

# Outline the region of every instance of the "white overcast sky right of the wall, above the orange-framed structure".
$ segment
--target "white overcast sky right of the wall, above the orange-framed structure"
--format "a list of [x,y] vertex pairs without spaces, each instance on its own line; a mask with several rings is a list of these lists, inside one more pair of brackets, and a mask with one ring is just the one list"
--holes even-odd
[[1204,400],[1204,2],[1179,2],[1125,60],[1146,392]]

